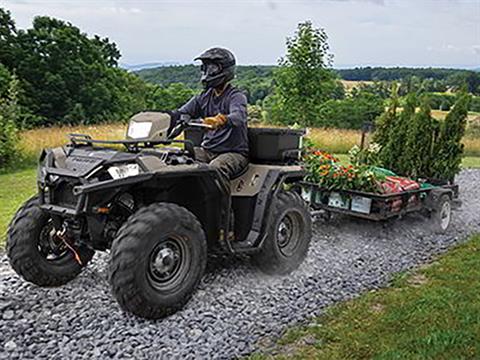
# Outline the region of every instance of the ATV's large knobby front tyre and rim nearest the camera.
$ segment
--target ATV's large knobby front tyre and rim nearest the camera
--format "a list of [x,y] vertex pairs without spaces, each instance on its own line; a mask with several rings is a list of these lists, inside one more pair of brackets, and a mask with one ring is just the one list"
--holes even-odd
[[120,306],[157,319],[179,310],[207,262],[207,242],[195,215],[157,203],[130,216],[113,241],[109,279]]

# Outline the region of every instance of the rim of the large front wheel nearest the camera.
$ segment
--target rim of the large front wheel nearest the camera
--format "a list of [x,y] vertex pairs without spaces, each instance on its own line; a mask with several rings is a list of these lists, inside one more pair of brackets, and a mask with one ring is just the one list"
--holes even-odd
[[190,269],[191,252],[185,239],[170,236],[159,242],[150,254],[147,275],[159,291],[180,285]]

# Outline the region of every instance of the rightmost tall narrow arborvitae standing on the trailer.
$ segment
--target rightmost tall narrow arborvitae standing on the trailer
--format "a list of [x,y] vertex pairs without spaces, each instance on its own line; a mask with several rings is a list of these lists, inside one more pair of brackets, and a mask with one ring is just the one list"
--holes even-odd
[[460,171],[463,155],[462,137],[467,124],[470,96],[466,92],[459,94],[453,109],[447,114],[440,126],[440,133],[434,146],[433,177],[453,182]]

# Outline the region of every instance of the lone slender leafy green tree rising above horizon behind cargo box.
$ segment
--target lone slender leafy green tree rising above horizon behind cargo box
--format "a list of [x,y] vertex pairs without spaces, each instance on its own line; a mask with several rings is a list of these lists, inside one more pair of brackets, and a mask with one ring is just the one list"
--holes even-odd
[[323,29],[307,21],[300,23],[293,37],[287,38],[287,50],[274,71],[275,116],[280,122],[313,124],[318,107],[338,90],[335,74],[329,69],[332,55]]

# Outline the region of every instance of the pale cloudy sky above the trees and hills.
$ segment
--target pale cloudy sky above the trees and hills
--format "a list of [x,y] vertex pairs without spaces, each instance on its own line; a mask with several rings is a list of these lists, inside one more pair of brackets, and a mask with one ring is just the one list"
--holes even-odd
[[122,63],[191,63],[206,48],[275,64],[299,22],[325,29],[335,67],[480,67],[480,0],[0,0],[19,28],[48,15],[114,41]]

